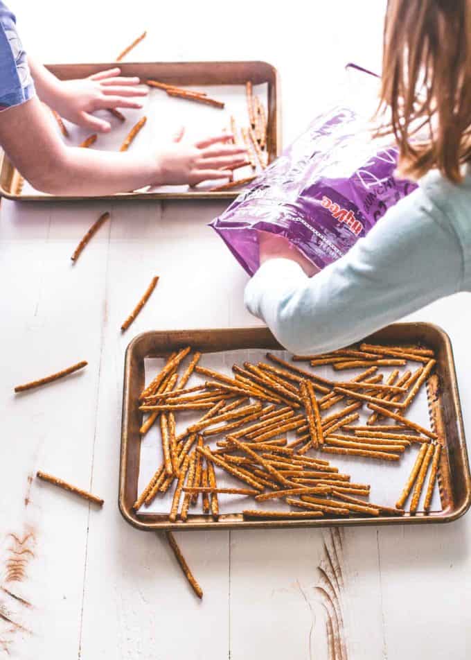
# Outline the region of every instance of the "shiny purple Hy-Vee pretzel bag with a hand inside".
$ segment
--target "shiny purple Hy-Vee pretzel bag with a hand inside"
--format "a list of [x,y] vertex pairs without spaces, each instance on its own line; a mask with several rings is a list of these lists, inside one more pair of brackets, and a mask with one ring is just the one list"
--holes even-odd
[[398,150],[337,106],[314,119],[211,223],[243,268],[260,266],[258,232],[284,236],[322,269],[366,236],[416,184],[396,178]]

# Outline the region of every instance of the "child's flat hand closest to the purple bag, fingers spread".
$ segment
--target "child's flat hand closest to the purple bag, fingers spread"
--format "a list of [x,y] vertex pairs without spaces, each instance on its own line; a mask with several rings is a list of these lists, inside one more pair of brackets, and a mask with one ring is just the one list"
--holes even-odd
[[247,149],[244,146],[224,144],[232,139],[230,133],[208,137],[195,144],[182,142],[182,137],[183,130],[175,136],[174,144],[159,152],[156,185],[195,186],[205,180],[231,179],[231,168],[245,162]]

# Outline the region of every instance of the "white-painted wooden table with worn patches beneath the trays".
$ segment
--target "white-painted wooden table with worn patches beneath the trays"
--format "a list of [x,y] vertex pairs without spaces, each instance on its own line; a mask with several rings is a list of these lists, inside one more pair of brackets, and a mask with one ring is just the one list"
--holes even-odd
[[[282,79],[285,144],[323,108],[346,62],[380,66],[380,0],[83,0],[80,10],[58,0],[11,4],[26,49],[45,62],[112,60],[145,28],[136,60],[272,62]],[[112,223],[72,267],[78,239],[106,209],[1,202],[0,659],[326,658],[323,603],[331,588],[318,566],[329,573],[324,544],[334,555],[332,543],[343,572],[340,605],[334,612],[327,604],[344,622],[337,660],[469,658],[470,515],[447,526],[340,535],[180,533],[202,602],[164,539],[123,521],[117,492],[127,343],[150,329],[254,319],[242,304],[245,274],[206,227],[221,205],[116,202]],[[156,273],[152,304],[121,336],[123,318]],[[471,429],[469,294],[414,318],[450,334]],[[81,359],[89,361],[85,372],[13,395],[13,385]],[[37,469],[90,487],[105,507],[89,510],[30,483]],[[8,581],[11,571],[22,579]]]

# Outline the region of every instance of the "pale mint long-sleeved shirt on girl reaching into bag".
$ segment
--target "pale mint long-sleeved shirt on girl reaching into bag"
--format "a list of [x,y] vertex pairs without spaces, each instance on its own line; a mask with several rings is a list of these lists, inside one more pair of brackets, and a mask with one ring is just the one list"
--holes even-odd
[[471,174],[455,185],[432,171],[314,277],[289,259],[265,262],[245,304],[284,347],[314,354],[463,290],[471,290]]

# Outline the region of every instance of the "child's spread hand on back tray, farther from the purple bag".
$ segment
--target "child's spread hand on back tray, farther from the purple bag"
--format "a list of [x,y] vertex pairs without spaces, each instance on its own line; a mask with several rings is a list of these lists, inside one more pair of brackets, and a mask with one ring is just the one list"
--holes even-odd
[[121,69],[116,67],[94,73],[89,78],[60,81],[54,98],[54,109],[78,126],[100,132],[110,130],[109,122],[91,113],[110,107],[139,108],[142,103],[130,97],[148,94],[148,89],[138,87],[139,78],[124,78],[120,73]]

